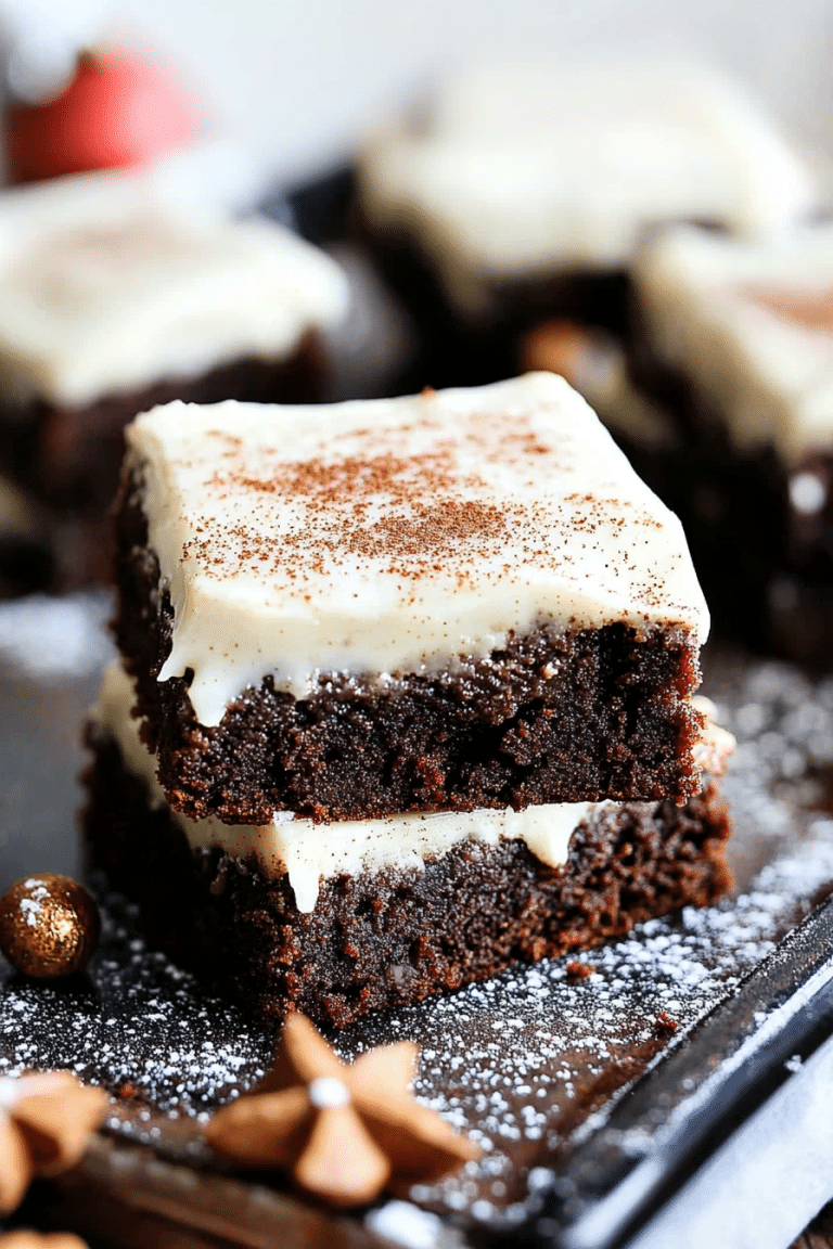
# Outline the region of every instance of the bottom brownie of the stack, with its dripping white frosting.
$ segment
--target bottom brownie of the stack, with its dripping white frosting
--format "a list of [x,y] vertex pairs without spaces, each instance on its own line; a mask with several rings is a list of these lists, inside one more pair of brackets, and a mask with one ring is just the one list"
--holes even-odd
[[731,884],[709,726],[701,794],[435,812],[387,821],[230,827],[171,811],[109,669],[87,744],[91,861],[136,901],[151,943],[276,1019],[343,1027],[368,1010],[581,950],[634,923],[706,906]]

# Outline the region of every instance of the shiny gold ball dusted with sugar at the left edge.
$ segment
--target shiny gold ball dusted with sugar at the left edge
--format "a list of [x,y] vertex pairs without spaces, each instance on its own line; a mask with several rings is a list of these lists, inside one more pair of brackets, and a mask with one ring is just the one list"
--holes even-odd
[[54,980],[84,970],[100,934],[95,898],[69,876],[39,872],[0,898],[0,949],[24,975]]

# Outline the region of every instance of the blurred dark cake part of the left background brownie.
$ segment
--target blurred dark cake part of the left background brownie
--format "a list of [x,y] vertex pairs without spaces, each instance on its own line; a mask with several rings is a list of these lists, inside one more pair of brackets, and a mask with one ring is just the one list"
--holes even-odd
[[101,513],[119,483],[124,427],[137,412],[176,398],[316,402],[322,383],[320,338],[308,331],[285,360],[237,360],[200,377],[171,377],[141,391],[105,395],[86,407],[46,400],[22,408],[0,405],[0,466],[59,513]]

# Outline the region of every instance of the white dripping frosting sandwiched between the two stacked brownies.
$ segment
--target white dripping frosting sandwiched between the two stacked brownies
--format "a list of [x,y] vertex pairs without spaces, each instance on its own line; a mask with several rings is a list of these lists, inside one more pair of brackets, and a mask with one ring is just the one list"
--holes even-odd
[[[116,661],[107,668],[95,718],[121,751],[127,771],[147,788],[154,807],[166,807],[156,779],[156,761],[139,737],[131,716],[135,694],[130,677]],[[390,816],[385,819],[333,821],[315,824],[291,812],[276,812],[271,824],[224,824],[216,818],[192,821],[171,812],[194,851],[219,848],[230,858],[256,863],[269,877],[288,874],[298,911],[316,904],[322,879],[356,876],[386,867],[421,871],[426,858],[445,854],[458,842],[496,846],[523,841],[550,867],[566,863],[569,838],[588,814],[616,803],[566,802],[525,811],[480,809],[432,814]]]

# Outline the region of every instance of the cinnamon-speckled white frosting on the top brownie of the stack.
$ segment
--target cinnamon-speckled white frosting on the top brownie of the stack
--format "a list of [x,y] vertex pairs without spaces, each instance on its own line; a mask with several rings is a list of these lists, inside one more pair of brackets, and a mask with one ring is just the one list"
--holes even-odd
[[303,697],[321,673],[440,672],[538,626],[708,629],[679,521],[552,373],[170,403],[127,443],[174,608],[160,679],[190,668],[206,726],[266,676]]

